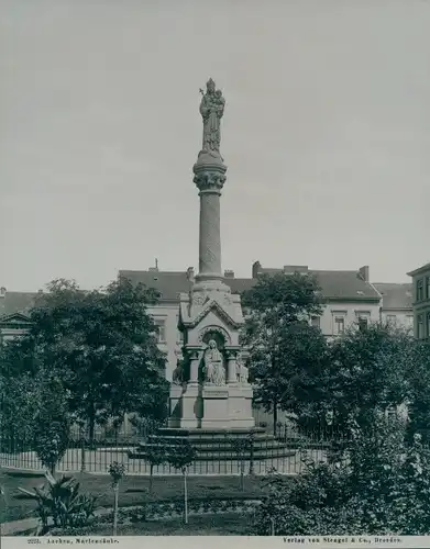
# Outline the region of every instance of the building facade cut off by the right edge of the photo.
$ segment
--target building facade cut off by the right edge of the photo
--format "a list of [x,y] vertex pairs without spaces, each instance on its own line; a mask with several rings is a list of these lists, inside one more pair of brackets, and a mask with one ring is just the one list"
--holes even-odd
[[417,339],[430,338],[430,264],[408,272],[412,278],[414,333]]

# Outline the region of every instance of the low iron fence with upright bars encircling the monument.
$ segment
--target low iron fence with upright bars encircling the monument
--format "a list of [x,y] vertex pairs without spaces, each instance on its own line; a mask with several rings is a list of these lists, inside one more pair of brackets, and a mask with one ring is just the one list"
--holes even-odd
[[[58,472],[107,473],[117,461],[125,468],[126,474],[175,475],[181,474],[168,462],[151,468],[145,455],[145,445],[151,445],[153,429],[98,429],[92,440],[78,429],[70,433],[69,444],[57,463]],[[263,429],[251,435],[246,450],[234,445],[234,435],[209,434],[194,436],[190,444],[196,449],[196,459],[189,466],[189,474],[235,475],[267,474],[277,471],[283,474],[299,474],[305,468],[305,458],[324,461],[342,435],[332,429],[297,429],[280,425],[276,436]],[[0,436],[0,466],[4,468],[43,471],[32,441]]]

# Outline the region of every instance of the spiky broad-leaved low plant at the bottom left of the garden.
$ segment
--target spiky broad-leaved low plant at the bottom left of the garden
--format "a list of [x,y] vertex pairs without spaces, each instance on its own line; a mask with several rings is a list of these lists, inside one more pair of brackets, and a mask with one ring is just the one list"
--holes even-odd
[[38,535],[46,534],[52,527],[84,527],[95,516],[97,497],[79,494],[79,483],[76,479],[63,475],[55,479],[51,472],[45,473],[46,482],[33,492],[19,488],[18,490],[31,500],[37,502],[40,519]]

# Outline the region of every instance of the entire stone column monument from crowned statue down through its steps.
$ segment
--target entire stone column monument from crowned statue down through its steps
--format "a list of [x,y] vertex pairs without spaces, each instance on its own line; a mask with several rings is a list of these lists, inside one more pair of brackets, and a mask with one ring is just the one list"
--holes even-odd
[[148,448],[159,440],[170,447],[186,439],[196,449],[196,462],[217,459],[227,467],[238,460],[234,442],[242,439],[242,458],[250,460],[251,471],[257,461],[273,464],[274,458],[291,457],[295,450],[256,428],[252,415],[253,391],[239,344],[244,323],[241,299],[231,293],[221,270],[220,198],[227,166],[220,143],[225,101],[212,79],[201,93],[203,138],[192,168],[200,200],[199,272],[194,278],[188,269],[189,291],[180,294],[178,328],[184,346],[173,373],[168,427],[148,435],[129,457],[147,461]]

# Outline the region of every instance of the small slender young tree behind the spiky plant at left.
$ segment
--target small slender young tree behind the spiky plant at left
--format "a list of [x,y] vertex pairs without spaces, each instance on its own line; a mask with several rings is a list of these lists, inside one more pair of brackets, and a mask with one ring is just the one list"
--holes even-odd
[[67,450],[70,419],[64,386],[58,378],[46,373],[40,379],[37,412],[34,419],[33,446],[44,467],[55,466]]

